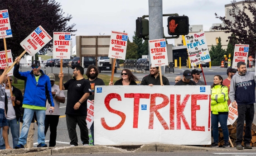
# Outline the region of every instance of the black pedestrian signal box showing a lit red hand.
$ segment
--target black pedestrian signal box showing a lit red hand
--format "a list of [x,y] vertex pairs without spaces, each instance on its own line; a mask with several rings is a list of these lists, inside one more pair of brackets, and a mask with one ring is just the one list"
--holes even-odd
[[169,35],[187,35],[189,32],[188,16],[169,16],[167,27]]

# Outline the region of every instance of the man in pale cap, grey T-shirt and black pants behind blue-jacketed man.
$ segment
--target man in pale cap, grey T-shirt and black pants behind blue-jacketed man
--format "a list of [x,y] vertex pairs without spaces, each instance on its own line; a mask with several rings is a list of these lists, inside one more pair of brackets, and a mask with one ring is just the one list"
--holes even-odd
[[55,83],[54,74],[50,73],[47,76],[49,76],[50,81],[51,81],[51,86],[52,86],[54,112],[51,113],[49,111],[50,104],[46,101],[45,120],[44,120],[44,135],[46,135],[47,130],[50,126],[49,147],[55,147],[56,137],[57,137],[58,119],[59,119],[59,116],[60,116],[59,104],[60,103],[65,103],[65,95],[64,95],[63,90],[59,90],[59,86],[54,84]]

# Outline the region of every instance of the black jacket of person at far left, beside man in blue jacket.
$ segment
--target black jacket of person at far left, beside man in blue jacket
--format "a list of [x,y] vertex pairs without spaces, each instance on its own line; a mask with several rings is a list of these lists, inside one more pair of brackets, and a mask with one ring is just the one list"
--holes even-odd
[[[15,106],[13,107],[14,111],[15,111],[16,119],[18,121],[19,118],[21,117],[21,113],[22,113],[20,108],[22,108],[23,95],[22,95],[21,91],[18,88],[14,87],[13,85],[12,85],[12,87],[13,87],[12,94],[15,96],[15,99],[20,101],[20,104],[14,103]],[[6,114],[8,112],[7,104],[8,104],[8,99],[7,99],[7,96],[5,94],[5,112],[6,112]]]

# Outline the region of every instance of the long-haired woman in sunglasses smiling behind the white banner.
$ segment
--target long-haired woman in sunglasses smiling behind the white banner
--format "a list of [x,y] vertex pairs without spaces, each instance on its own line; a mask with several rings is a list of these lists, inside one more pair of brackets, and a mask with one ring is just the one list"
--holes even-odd
[[[117,80],[114,85],[137,85],[135,82],[137,80],[138,78],[129,69],[123,69],[121,79]],[[109,85],[113,85],[113,82],[109,82]]]

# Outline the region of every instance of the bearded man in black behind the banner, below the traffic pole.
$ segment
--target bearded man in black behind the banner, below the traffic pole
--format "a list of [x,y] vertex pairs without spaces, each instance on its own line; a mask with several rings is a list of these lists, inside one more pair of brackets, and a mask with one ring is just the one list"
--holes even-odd
[[[162,76],[162,80],[163,80],[163,85],[170,85],[169,80],[166,77]],[[152,67],[150,65],[150,74],[143,77],[140,85],[149,85],[149,86],[161,85],[160,76],[159,76],[159,67],[158,66]]]

